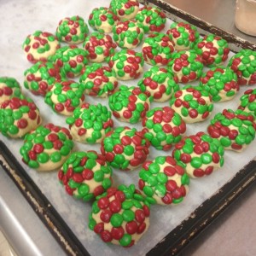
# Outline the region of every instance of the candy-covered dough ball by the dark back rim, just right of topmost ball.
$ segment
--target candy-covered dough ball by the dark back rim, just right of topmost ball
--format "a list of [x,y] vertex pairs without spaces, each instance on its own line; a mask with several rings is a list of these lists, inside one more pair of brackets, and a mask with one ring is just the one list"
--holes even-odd
[[144,6],[139,9],[135,20],[144,26],[144,32],[160,32],[166,26],[166,15],[160,9]]

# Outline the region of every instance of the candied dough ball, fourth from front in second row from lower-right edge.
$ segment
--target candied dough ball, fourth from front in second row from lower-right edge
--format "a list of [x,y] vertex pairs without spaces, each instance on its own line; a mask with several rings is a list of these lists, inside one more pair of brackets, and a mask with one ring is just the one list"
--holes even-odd
[[171,107],[181,115],[186,123],[196,123],[207,119],[212,113],[212,99],[201,86],[184,86],[172,96]]

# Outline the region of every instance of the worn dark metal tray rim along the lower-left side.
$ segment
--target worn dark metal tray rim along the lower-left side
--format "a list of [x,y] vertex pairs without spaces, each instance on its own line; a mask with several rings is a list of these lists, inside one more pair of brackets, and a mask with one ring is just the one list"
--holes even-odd
[[61,215],[52,207],[49,200],[42,193],[32,178],[26,173],[19,161],[9,151],[9,148],[0,140],[0,165],[7,172],[15,185],[25,196],[34,212],[42,220],[55,240],[68,255],[90,255],[79,241],[77,236],[68,227]]

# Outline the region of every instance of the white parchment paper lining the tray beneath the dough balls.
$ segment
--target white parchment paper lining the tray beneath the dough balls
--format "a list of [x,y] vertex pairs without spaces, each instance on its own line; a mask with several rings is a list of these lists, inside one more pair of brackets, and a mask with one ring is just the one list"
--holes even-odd
[[[21,49],[21,44],[26,38],[26,35],[34,32],[35,30],[42,30],[48,32],[55,32],[59,20],[64,17],[72,15],[81,15],[84,20],[88,20],[90,11],[93,8],[100,6],[108,6],[109,1],[80,1],[76,0],[72,3],[70,1],[8,1],[0,2],[0,15],[1,20],[1,61],[0,61],[0,75],[10,76],[18,79],[20,84],[23,84],[23,73],[26,68],[31,64],[26,61],[25,54]],[[166,23],[166,29],[170,26],[171,20]],[[166,31],[166,30],[165,30]],[[91,32],[91,30],[90,30]],[[62,44],[64,45],[64,44]],[[140,51],[140,47],[136,50]],[[230,54],[231,56],[231,54]],[[144,71],[150,66],[145,64]],[[131,80],[129,82],[119,82],[119,84],[137,85],[137,80]],[[195,83],[196,84],[196,83]],[[238,106],[238,100],[244,90],[248,87],[241,88],[241,91],[236,95],[235,99],[231,102],[219,102],[214,104],[214,113],[218,113],[223,108],[236,109]],[[54,113],[48,105],[44,103],[44,98],[41,96],[33,96],[28,90],[24,89],[24,94],[30,96],[38,105],[41,116],[43,118],[43,124],[53,122],[55,125],[66,126],[65,117]],[[107,100],[96,99],[90,96],[86,96],[86,102],[95,103],[102,102],[108,106]],[[165,103],[152,103],[151,108],[156,106],[165,106]],[[114,119],[114,118],[113,118]],[[209,119],[203,123],[187,125],[187,135],[195,134],[197,131],[206,131]],[[126,125],[125,123],[119,123],[114,119],[114,125]],[[137,129],[141,128],[141,125],[133,125]],[[9,149],[15,154],[17,160],[20,161],[19,148],[22,144],[22,140],[7,139],[0,135],[0,139],[3,143],[9,146]],[[91,148],[100,152],[99,145],[83,145],[75,143],[74,150],[88,150]],[[218,172],[212,173],[210,177],[202,177],[199,179],[191,179],[189,186],[189,194],[184,201],[176,207],[162,207],[152,206],[150,226],[147,234],[138,242],[138,244],[129,249],[117,247],[113,245],[107,245],[101,241],[101,238],[96,236],[94,232],[89,230],[88,216],[90,212],[90,203],[74,200],[71,196],[67,195],[63,187],[58,182],[57,172],[40,173],[35,172],[32,169],[27,168],[20,161],[20,164],[24,167],[26,172],[32,177],[34,183],[38,185],[38,188],[49,199],[49,202],[56,211],[60,213],[61,217],[65,220],[67,225],[73,230],[74,234],[79,238],[84,247],[91,255],[100,255],[104,250],[105,255],[144,255],[155,244],[161,241],[171,230],[177,227],[183,219],[187,218],[195,208],[199,207],[202,202],[206,201],[212,194],[214,194],[224,183],[227,183],[231,177],[234,177],[248,161],[253,160],[255,156],[254,141],[249,147],[241,154],[235,152],[226,151],[224,158],[224,166],[218,170]],[[158,151],[154,148],[150,148],[150,154],[148,159],[154,159],[156,155],[171,154],[172,150],[168,152]],[[242,156],[242,157],[241,157]],[[239,161],[237,158],[239,157]],[[120,183],[130,184],[136,183],[138,180],[139,168],[133,172],[120,172],[113,170],[113,181],[115,185]]]

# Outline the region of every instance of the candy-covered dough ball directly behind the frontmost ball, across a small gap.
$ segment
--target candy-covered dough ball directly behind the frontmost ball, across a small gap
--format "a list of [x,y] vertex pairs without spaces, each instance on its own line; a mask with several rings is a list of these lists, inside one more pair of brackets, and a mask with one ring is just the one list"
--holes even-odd
[[142,165],[149,154],[150,143],[135,128],[118,127],[108,132],[101,151],[113,168],[129,171]]

